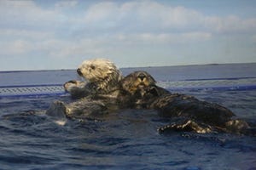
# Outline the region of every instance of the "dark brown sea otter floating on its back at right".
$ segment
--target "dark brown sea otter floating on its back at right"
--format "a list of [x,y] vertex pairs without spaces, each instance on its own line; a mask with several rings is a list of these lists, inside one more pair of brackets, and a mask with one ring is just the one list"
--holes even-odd
[[224,106],[201,101],[185,94],[172,94],[155,84],[146,71],[135,71],[121,81],[122,87],[135,101],[135,106],[153,109],[170,124],[160,127],[160,133],[193,131],[196,133],[247,133],[247,122]]

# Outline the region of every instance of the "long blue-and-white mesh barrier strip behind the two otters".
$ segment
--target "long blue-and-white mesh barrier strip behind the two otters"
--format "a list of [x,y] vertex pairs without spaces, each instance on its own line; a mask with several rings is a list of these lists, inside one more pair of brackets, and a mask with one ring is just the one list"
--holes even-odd
[[[196,80],[179,82],[158,82],[160,87],[166,89],[256,89],[256,78],[241,79],[219,79],[219,80]],[[62,84],[42,84],[42,85],[22,85],[22,86],[2,86],[0,87],[0,97],[28,96],[28,95],[56,95],[66,94]]]

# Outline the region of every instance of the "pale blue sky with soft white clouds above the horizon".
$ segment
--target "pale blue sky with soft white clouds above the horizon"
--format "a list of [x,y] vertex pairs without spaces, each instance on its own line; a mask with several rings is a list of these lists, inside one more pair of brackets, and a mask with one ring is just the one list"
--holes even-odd
[[0,0],[0,71],[256,62],[253,0]]

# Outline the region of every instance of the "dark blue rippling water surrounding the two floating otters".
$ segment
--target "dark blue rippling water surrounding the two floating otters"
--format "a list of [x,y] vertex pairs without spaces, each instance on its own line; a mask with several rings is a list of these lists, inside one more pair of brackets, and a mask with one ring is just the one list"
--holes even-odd
[[[172,92],[228,107],[256,122],[256,64],[126,68],[151,73]],[[256,138],[234,134],[160,135],[155,111],[125,110],[102,120],[57,125],[44,111],[63,91],[5,93],[3,88],[61,85],[75,71],[0,72],[0,169],[256,169]],[[1,94],[2,93],[2,94]],[[29,95],[26,95],[29,94]]]

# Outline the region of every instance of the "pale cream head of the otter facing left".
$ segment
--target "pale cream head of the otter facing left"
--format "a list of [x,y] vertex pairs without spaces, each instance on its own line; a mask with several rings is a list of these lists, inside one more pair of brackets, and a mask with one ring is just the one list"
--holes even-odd
[[77,70],[80,77],[90,82],[102,82],[105,79],[113,79],[117,82],[121,79],[119,69],[108,59],[85,60]]

